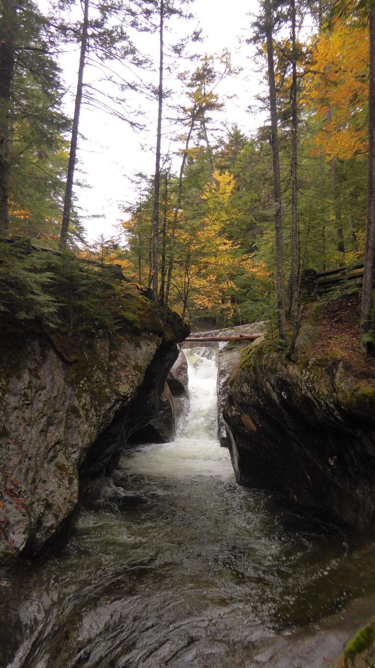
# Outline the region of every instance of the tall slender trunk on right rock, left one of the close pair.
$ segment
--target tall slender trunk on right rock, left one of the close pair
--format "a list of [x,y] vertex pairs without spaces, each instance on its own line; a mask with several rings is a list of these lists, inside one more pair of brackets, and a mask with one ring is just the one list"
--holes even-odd
[[268,85],[270,88],[272,166],[274,171],[274,214],[276,246],[276,285],[278,294],[278,327],[281,341],[286,343],[286,321],[284,303],[284,272],[282,267],[282,208],[280,187],[280,158],[278,142],[278,115],[276,109],[276,88],[274,71],[274,44],[272,40],[271,0],[266,0],[266,38],[268,59]]

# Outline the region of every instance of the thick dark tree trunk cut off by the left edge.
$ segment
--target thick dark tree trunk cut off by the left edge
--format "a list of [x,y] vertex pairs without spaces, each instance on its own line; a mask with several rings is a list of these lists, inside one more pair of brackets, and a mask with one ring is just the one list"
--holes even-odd
[[3,0],[0,22],[0,232],[9,230],[9,111],[15,60],[15,0]]

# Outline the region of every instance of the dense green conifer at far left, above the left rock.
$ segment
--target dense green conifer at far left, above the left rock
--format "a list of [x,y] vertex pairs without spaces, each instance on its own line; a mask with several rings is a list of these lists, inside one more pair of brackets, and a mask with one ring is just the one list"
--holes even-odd
[[51,55],[55,35],[31,0],[17,11],[5,2],[0,31],[0,227],[40,236],[51,224],[53,234],[69,128]]

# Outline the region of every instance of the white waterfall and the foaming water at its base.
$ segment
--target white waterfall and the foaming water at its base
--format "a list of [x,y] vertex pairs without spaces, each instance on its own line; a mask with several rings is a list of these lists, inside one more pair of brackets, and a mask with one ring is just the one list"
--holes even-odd
[[[217,437],[218,364],[215,351],[194,348],[184,351],[189,373],[190,410],[181,421],[172,443],[155,444],[129,452],[122,462],[129,474],[148,478],[234,476],[228,450]],[[207,354],[212,353],[213,359]]]

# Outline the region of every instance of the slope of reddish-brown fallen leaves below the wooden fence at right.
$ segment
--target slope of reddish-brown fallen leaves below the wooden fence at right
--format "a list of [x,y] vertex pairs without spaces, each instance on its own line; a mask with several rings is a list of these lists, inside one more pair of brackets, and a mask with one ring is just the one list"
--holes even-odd
[[342,295],[327,301],[320,311],[317,327],[322,338],[312,347],[312,355],[340,353],[346,365],[368,385],[375,387],[375,357],[364,355],[358,349],[359,304],[355,294]]

